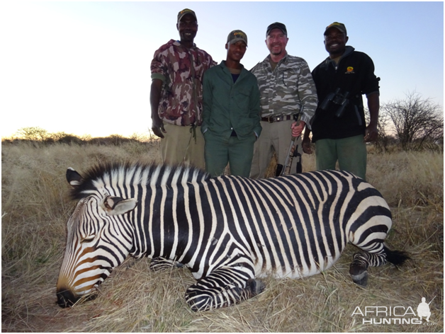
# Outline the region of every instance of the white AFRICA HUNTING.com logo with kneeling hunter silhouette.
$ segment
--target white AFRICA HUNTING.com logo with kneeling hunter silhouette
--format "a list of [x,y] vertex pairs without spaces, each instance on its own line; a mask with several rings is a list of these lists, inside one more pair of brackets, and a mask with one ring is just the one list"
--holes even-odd
[[[436,298],[436,296],[434,296]],[[434,298],[427,303],[422,297],[422,302],[417,306],[417,313],[411,306],[357,306],[351,314],[353,317],[361,317],[363,324],[370,325],[424,325],[435,326],[437,323],[429,321],[431,311],[429,304]]]

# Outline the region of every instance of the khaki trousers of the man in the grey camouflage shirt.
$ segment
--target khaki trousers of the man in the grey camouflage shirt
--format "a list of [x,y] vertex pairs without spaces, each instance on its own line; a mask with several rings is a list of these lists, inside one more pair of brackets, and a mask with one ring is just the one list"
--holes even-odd
[[[264,178],[267,168],[271,163],[274,152],[278,157],[278,163],[284,166],[288,156],[289,145],[292,139],[291,125],[294,120],[283,122],[261,122],[261,135],[254,145],[254,157],[252,159],[252,168],[250,169],[251,178]],[[303,154],[301,146],[301,137],[297,140],[298,153]],[[301,156],[300,156],[301,157]],[[297,172],[298,157],[294,157],[291,166],[291,174]]]

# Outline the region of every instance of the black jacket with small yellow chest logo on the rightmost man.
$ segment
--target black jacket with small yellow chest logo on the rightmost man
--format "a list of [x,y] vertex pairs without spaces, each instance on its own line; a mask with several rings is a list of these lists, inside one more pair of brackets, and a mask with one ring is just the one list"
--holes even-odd
[[[318,106],[312,118],[312,142],[318,139],[342,139],[365,133],[365,115],[363,94],[378,93],[378,81],[374,75],[372,59],[363,52],[354,51],[354,47],[347,46],[344,54],[335,64],[329,57],[312,71],[312,78],[317,87]],[[347,94],[347,103],[340,117],[335,113],[340,105],[333,102],[325,103],[325,99],[332,98],[331,93]],[[337,98],[342,103],[344,98]]]

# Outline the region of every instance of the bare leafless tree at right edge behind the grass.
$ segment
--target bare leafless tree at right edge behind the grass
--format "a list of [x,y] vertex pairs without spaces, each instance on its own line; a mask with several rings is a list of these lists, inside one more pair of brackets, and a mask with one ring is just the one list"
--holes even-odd
[[408,149],[416,142],[436,142],[444,137],[444,113],[439,104],[419,93],[407,93],[405,100],[385,103],[381,110],[393,122],[393,129],[402,149]]

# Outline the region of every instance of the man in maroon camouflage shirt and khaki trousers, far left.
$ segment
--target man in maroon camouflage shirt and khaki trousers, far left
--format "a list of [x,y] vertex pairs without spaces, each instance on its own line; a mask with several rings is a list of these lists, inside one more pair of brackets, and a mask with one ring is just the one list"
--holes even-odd
[[161,138],[164,163],[204,169],[202,82],[204,72],[215,62],[193,42],[198,31],[194,11],[180,11],[176,28],[181,40],[159,47],[151,64],[152,131]]

